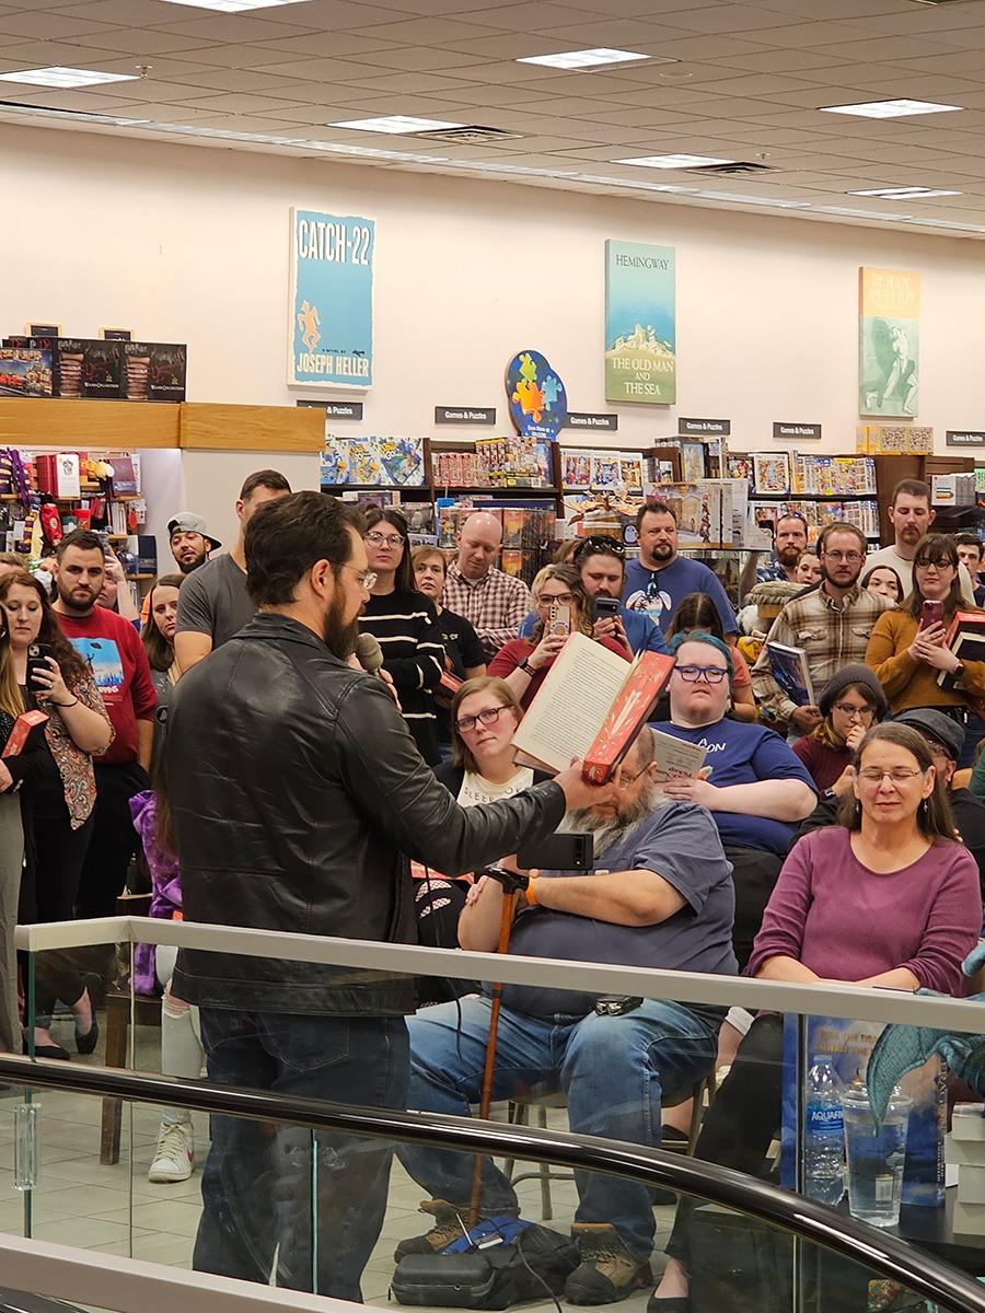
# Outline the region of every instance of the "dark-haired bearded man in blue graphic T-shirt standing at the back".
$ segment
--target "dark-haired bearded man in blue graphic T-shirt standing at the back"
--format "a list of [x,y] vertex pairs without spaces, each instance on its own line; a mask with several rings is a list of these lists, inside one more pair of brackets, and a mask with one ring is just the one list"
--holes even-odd
[[682,597],[707,592],[721,616],[725,638],[738,635],[735,612],[717,576],[700,561],[678,555],[678,520],[666,502],[646,502],[636,516],[640,559],[626,567],[623,601],[628,611],[650,614],[666,629]]

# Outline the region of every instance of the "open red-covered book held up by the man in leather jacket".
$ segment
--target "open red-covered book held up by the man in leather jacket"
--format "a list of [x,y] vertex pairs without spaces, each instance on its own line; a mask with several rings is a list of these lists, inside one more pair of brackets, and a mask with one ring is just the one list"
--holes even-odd
[[571,634],[514,734],[516,760],[540,771],[584,762],[603,784],[625,756],[674,670],[674,658],[641,653],[632,664],[584,634]]

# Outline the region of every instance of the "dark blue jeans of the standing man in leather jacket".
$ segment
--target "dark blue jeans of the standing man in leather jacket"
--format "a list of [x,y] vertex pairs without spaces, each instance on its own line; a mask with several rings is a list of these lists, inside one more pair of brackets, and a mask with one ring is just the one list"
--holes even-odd
[[[364,1108],[407,1106],[403,1018],[302,1016],[202,1007],[209,1079]],[[317,1145],[313,1165],[313,1141]],[[361,1302],[393,1148],[301,1127],[211,1119],[192,1266]]]

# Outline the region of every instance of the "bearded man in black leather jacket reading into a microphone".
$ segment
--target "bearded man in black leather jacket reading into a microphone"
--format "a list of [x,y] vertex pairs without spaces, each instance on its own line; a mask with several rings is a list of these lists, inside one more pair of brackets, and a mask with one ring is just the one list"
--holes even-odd
[[[616,797],[569,769],[487,806],[452,800],[390,689],[345,662],[368,596],[360,528],[320,492],[271,502],[250,521],[257,616],[180,680],[172,702],[168,792],[186,920],[410,943],[405,853],[470,871],[552,832],[566,800]],[[410,978],[186,949],[172,989],[201,1008],[211,1081],[406,1106]],[[390,1150],[319,1134],[314,1166],[306,1130],[222,1116],[211,1130],[194,1267],[268,1283],[277,1249],[278,1284],[361,1300]]]

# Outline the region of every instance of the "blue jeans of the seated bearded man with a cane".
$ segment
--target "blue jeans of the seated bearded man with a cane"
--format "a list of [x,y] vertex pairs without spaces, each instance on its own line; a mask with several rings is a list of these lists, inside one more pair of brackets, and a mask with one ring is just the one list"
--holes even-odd
[[[410,1019],[411,1108],[469,1115],[479,1102],[491,1003],[461,999],[428,1007]],[[661,1099],[700,1081],[717,1050],[717,1024],[679,1003],[646,999],[624,1016],[538,1018],[503,1008],[499,1015],[492,1098],[532,1088],[563,1090],[571,1130],[659,1148]],[[398,1157],[433,1199],[468,1209],[473,1158],[402,1146]],[[629,1253],[653,1250],[650,1191],[615,1176],[577,1173],[578,1222],[611,1222]],[[512,1186],[486,1158],[482,1216],[519,1213]]]

